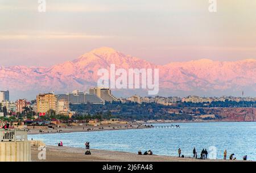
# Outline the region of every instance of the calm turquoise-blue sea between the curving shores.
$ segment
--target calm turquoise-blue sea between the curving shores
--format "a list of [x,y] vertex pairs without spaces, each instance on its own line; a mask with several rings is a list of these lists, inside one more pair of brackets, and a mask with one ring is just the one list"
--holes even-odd
[[[168,124],[158,124],[168,125]],[[170,124],[169,124],[170,125]],[[175,124],[174,124],[175,125]],[[210,146],[216,147],[217,159],[223,158],[224,150],[228,157],[234,153],[239,160],[243,155],[256,161],[256,122],[250,123],[181,123],[180,128],[133,129],[99,132],[75,132],[28,135],[33,140],[42,140],[47,145],[84,147],[86,141],[90,148],[102,150],[128,151],[138,153],[152,150],[157,155],[176,156],[180,147],[186,157],[192,156],[193,147],[197,153]],[[200,154],[199,154],[200,155]]]

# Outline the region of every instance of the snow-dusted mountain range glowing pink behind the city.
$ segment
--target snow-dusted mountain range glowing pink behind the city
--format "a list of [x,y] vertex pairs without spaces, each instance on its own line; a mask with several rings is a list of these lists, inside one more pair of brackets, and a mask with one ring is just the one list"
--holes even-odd
[[[35,98],[39,92],[70,92],[96,86],[97,70],[116,68],[158,68],[159,95],[164,96],[256,96],[256,60],[213,61],[201,59],[156,65],[112,48],[102,47],[83,54],[73,61],[42,66],[0,67],[0,90],[8,89],[11,99]],[[141,90],[116,90],[117,96],[144,95]]]

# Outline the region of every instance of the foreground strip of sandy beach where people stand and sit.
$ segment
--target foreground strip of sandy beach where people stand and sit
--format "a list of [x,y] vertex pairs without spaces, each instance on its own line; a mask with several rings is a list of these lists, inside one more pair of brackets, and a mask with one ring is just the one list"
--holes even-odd
[[[161,155],[138,155],[134,153],[90,149],[92,155],[85,155],[85,149],[75,147],[46,146],[46,160],[39,160],[37,147],[32,147],[34,162],[222,162],[224,160],[200,160]],[[226,160],[225,162],[230,162]],[[234,161],[231,161],[234,162]],[[238,161],[239,162],[239,161]],[[241,161],[243,162],[243,161]]]

